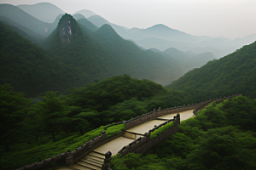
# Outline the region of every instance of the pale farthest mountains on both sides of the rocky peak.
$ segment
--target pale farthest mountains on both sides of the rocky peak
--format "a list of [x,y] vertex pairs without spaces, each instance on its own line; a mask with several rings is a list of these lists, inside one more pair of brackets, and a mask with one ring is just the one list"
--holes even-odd
[[[22,9],[22,11],[19,10],[19,8]],[[60,20],[61,15],[65,13],[61,8],[58,8],[51,3],[18,5],[16,7],[13,5],[1,4],[0,9],[0,16],[8,17],[10,20],[15,21],[21,26],[26,25],[26,27],[29,27],[32,31],[35,31],[44,37],[49,36],[57,26],[57,21]],[[47,13],[45,11],[47,11]],[[226,37],[192,36],[162,24],[151,26],[146,29],[128,29],[125,26],[115,25],[88,9],[80,10],[74,13],[74,15],[76,15],[74,16],[76,20],[84,17],[84,19],[89,20],[97,27],[108,24],[124,39],[132,40],[142,48],[157,48],[160,51],[164,51],[167,48],[177,48],[180,51],[192,51],[195,54],[211,52],[216,58],[220,58],[236,51],[237,48],[241,48],[243,45],[252,43],[256,39],[256,34],[243,38],[236,38],[232,41]],[[34,23],[33,26],[30,26],[26,21],[24,22],[22,18],[31,20],[32,23]]]

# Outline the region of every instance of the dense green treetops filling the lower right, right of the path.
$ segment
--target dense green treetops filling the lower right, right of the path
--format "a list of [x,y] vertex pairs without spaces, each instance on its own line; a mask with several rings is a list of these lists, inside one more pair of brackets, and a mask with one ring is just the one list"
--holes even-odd
[[[148,150],[146,156],[113,156],[115,169],[256,168],[256,100],[239,96],[213,103],[178,127],[178,133]],[[241,116],[240,116],[241,115]],[[245,124],[244,122],[250,122]]]

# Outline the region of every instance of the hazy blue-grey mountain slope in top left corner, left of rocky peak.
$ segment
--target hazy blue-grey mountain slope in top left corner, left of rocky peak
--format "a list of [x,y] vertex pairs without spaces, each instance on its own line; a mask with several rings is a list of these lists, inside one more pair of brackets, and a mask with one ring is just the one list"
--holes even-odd
[[27,14],[22,9],[10,4],[0,4],[0,15],[9,18],[9,20],[14,21],[20,26],[25,26],[26,28],[44,37],[49,36],[49,34],[55,29],[58,21],[61,18],[61,14],[59,14],[55,18],[55,22],[49,24],[42,20],[38,20],[31,14]]

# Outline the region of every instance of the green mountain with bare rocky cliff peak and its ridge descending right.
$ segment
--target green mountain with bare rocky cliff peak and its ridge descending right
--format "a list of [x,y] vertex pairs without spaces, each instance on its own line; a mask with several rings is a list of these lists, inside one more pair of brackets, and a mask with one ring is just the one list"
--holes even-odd
[[131,41],[124,40],[109,25],[103,25],[95,32],[86,31],[69,14],[62,16],[46,43],[45,48],[56,56],[55,59],[78,66],[92,82],[128,74],[155,82],[165,79],[168,83],[176,77],[180,67],[175,60],[150,50],[143,51]]

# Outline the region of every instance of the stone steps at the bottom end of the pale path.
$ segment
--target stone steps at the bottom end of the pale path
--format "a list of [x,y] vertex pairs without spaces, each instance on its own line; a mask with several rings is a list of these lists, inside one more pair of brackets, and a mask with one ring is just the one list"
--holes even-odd
[[91,151],[89,155],[84,156],[70,167],[76,170],[101,170],[104,158],[104,154]]

